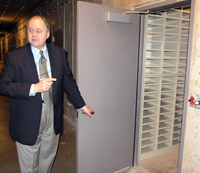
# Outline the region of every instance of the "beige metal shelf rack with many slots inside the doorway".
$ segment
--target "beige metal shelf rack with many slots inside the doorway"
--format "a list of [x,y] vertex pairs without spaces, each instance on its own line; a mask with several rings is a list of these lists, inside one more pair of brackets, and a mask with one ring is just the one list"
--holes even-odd
[[145,16],[138,159],[179,149],[190,6]]

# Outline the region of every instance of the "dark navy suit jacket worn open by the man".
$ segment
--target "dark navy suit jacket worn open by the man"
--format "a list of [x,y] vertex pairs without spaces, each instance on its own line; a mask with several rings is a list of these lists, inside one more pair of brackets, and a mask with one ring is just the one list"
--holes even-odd
[[[63,129],[63,88],[75,108],[85,105],[67,62],[65,51],[47,44],[53,82],[54,130]],[[5,55],[4,69],[0,75],[0,94],[10,97],[10,136],[25,145],[34,145],[39,131],[42,99],[41,93],[29,96],[31,84],[39,82],[30,44]]]

